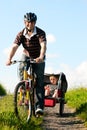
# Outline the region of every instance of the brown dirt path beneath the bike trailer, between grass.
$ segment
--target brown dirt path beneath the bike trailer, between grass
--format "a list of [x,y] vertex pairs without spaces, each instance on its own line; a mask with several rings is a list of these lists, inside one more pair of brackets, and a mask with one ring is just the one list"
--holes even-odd
[[43,122],[43,130],[87,130],[84,122],[75,117],[74,110],[70,109],[66,104],[64,115],[58,115],[59,105],[55,107],[45,107],[45,116]]

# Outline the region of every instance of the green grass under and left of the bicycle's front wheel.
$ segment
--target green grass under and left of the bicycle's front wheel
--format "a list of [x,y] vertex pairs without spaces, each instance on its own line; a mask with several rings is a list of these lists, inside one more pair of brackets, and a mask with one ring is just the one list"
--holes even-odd
[[14,114],[13,96],[0,99],[0,130],[42,130],[42,121],[33,117],[29,123],[19,122]]

